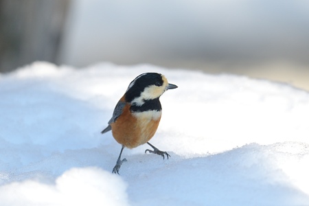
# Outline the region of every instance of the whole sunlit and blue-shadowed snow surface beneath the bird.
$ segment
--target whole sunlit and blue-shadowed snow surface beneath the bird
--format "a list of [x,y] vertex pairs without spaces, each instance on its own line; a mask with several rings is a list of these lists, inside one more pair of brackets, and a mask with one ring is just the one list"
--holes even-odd
[[[104,135],[140,73],[161,97],[151,143],[170,159]],[[34,62],[0,75],[0,205],[309,205],[309,93],[228,74],[108,63]]]

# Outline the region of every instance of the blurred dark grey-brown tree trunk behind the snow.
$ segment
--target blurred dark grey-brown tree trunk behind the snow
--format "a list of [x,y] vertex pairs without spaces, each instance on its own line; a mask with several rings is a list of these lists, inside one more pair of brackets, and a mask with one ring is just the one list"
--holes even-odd
[[57,63],[70,0],[0,0],[0,72]]

